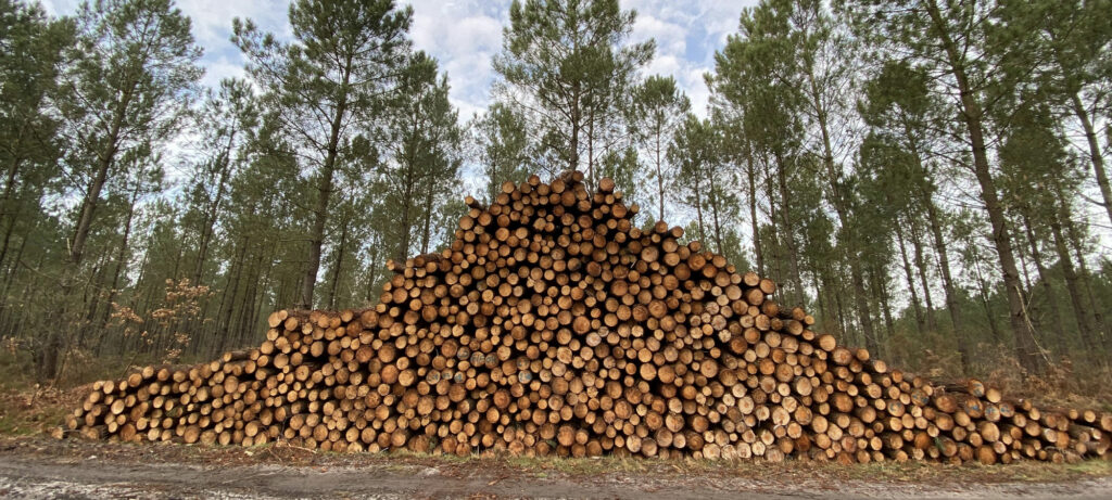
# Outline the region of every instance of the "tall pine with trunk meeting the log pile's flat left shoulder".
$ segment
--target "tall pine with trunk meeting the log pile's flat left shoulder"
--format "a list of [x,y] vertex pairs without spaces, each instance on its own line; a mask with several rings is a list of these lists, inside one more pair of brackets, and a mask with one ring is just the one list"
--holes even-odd
[[262,34],[250,20],[232,22],[248,72],[316,188],[295,307],[314,306],[337,171],[368,153],[359,136],[384,109],[404,67],[411,17],[411,8],[398,10],[391,0],[298,0],[289,7],[289,43]]

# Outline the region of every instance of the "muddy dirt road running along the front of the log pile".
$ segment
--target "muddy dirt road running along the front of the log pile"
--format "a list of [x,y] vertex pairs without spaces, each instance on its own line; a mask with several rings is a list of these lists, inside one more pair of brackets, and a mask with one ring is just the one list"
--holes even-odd
[[[337,456],[296,449],[0,441],[11,498],[1112,498],[1106,467],[684,466]],[[1061,467],[1061,466],[1060,466]],[[563,469],[563,470],[562,470]],[[619,469],[619,470],[613,470]],[[620,470],[625,469],[625,470]],[[1032,477],[1034,476],[1034,477]]]

